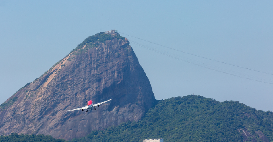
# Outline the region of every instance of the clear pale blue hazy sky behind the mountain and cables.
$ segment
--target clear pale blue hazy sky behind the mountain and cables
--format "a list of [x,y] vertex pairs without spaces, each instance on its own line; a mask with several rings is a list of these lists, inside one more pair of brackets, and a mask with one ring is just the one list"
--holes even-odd
[[272,7],[249,0],[0,0],[0,103],[88,36],[116,29],[131,42],[156,99],[194,93],[273,111]]

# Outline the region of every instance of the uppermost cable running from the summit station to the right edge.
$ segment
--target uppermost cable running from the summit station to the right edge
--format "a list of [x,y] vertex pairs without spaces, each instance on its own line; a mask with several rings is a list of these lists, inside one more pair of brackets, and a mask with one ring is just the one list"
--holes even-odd
[[[122,32],[119,32],[119,33],[125,34],[125,33],[122,33]],[[130,36],[128,34],[125,34],[125,35]],[[131,37],[134,37],[134,36],[131,36]],[[134,37],[134,38],[140,39],[138,37]],[[153,42],[150,42],[150,41],[147,41],[147,40],[144,40],[144,39],[140,39],[140,40],[143,40],[143,41],[146,41],[146,42],[149,42],[149,43],[153,43]],[[221,62],[221,61],[218,61],[218,60],[213,60],[213,59],[209,59],[209,58],[206,58],[206,57],[194,55],[194,54],[191,54],[191,53],[187,53],[187,52],[184,52],[184,51],[173,49],[173,48],[170,48],[170,47],[167,47],[167,46],[164,46],[164,45],[160,45],[160,44],[157,44],[157,43],[153,43],[153,44],[156,44],[156,45],[159,45],[159,46],[162,46],[162,47],[166,47],[166,48],[169,48],[169,49],[172,49],[172,50],[175,50],[175,51],[179,51],[179,52],[182,52],[182,53],[186,53],[186,54],[189,54],[189,55],[193,55],[193,56],[196,56],[196,57],[204,58],[204,59],[207,59],[207,60],[212,60],[212,61],[215,61],[215,62],[220,62],[220,63],[223,63],[223,64],[228,64],[228,65],[231,65],[231,66],[236,66],[236,67],[239,67],[239,68],[244,68],[244,69],[247,69],[247,70],[253,70],[253,69],[250,69],[250,68],[245,68],[245,67],[242,67],[242,66],[237,66],[237,65],[234,65],[234,64],[229,64],[229,63]],[[261,72],[261,73],[264,73],[264,74],[271,74],[271,73],[262,72],[262,71],[259,71],[259,70],[253,70],[253,71],[255,71],[255,72]],[[273,74],[271,74],[271,75],[273,75]]]

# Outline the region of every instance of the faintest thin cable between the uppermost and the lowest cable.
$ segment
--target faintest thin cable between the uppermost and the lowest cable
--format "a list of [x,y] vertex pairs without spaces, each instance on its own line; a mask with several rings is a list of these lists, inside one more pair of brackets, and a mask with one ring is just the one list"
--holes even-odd
[[[244,74],[244,73],[239,73],[239,72],[235,72],[235,71],[228,70],[228,69],[225,69],[225,68],[221,68],[221,67],[218,67],[218,66],[206,64],[206,63],[203,63],[203,62],[199,62],[199,61],[197,61],[197,60],[192,60],[192,59],[184,58],[184,57],[181,57],[181,56],[174,55],[174,54],[172,54],[172,53],[166,53],[165,51],[160,51],[160,50],[158,50],[158,49],[153,49],[152,47],[147,47],[147,46],[141,45],[141,44],[139,44],[139,43],[137,43],[137,42],[135,42],[135,41],[132,41],[132,40],[130,40],[130,39],[129,39],[129,41],[130,41],[131,43],[135,44],[135,45],[139,45],[139,46],[144,47],[144,48],[146,48],[146,49],[155,51],[155,52],[157,52],[157,53],[159,53],[159,52],[163,53],[163,52],[164,52],[164,55],[172,56],[172,58],[175,57],[175,59],[178,58],[179,60],[182,60],[182,59],[191,60],[191,62],[193,62],[193,63],[194,63],[194,62],[197,62],[197,63],[195,63],[195,64],[204,64],[205,66],[209,66],[209,67],[212,67],[212,68],[218,68],[218,69],[226,70],[226,71],[228,71],[228,72],[233,72],[233,73],[235,73],[235,74],[239,74],[239,75],[243,75],[243,76],[248,76],[248,77],[250,77],[250,78],[256,78],[256,79],[259,79],[259,80],[265,80],[265,81],[268,81],[268,82],[272,82],[272,80],[267,80],[267,79],[264,79],[264,78],[258,78],[258,77],[249,76],[249,75]],[[182,59],[181,59],[181,58],[182,58]],[[183,61],[184,61],[184,60],[183,60]],[[215,69],[215,70],[217,70],[217,69]]]

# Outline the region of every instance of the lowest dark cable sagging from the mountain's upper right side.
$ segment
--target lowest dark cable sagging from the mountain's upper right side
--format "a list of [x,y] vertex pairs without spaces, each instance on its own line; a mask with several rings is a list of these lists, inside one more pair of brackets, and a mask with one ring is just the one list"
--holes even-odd
[[[132,42],[132,43],[133,43],[133,42]],[[134,43],[134,44],[135,44],[135,43]],[[177,59],[177,60],[181,60],[181,61],[184,61],[184,62],[193,64],[193,65],[196,65],[196,66],[200,66],[200,67],[203,67],[203,68],[207,68],[207,69],[210,69],[210,70],[214,70],[214,71],[216,71],[216,72],[222,72],[222,73],[224,73],[224,74],[229,74],[229,75],[232,75],[232,76],[236,76],[236,77],[240,77],[240,78],[245,78],[245,79],[253,80],[253,81],[257,81],[257,82],[273,84],[273,83],[270,83],[270,82],[264,82],[264,81],[260,81],[260,80],[255,80],[255,79],[251,79],[251,78],[246,78],[246,77],[243,77],[243,76],[238,76],[238,75],[235,75],[235,74],[230,74],[230,73],[228,73],[228,72],[223,72],[223,71],[220,71],[220,70],[216,70],[216,69],[213,69],[213,68],[209,68],[209,67],[206,67],[206,66],[202,66],[202,65],[200,65],[200,64],[196,64],[196,63],[193,63],[193,62],[189,62],[189,61],[187,61],[187,60],[183,60],[183,59],[180,59],[180,58],[177,58],[177,57],[168,55],[168,54],[166,54],[166,53],[157,51],[157,50],[155,50],[155,49],[151,49],[151,48],[149,48],[149,47],[145,47],[145,46],[143,46],[143,45],[139,45],[139,44],[137,44],[137,45],[138,45],[138,46],[141,46],[141,47],[143,47],[143,48],[146,48],[146,49],[155,51],[155,52],[160,53],[160,54],[162,54],[162,55],[166,55],[166,56],[168,56],[168,57],[171,57],[171,58],[174,58],[174,59]]]

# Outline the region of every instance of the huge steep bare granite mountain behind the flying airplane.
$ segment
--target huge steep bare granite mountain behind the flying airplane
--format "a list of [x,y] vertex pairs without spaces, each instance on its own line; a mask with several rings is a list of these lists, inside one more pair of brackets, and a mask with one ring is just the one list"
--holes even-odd
[[[113,99],[96,110],[66,112]],[[70,140],[126,121],[155,103],[150,82],[129,45],[98,33],[0,106],[0,133],[45,134]]]

